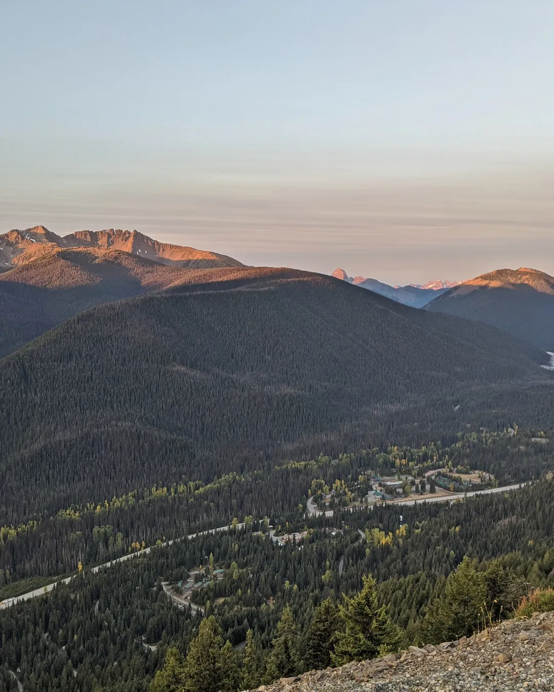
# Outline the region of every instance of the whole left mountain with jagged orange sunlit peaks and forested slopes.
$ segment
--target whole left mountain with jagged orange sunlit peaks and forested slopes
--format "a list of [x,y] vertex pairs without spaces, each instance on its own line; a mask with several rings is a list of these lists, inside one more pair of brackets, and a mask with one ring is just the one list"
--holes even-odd
[[0,235],[0,358],[94,305],[211,281],[217,271],[221,280],[242,266],[233,257],[160,243],[137,231],[81,230],[62,237],[44,226],[10,230]]

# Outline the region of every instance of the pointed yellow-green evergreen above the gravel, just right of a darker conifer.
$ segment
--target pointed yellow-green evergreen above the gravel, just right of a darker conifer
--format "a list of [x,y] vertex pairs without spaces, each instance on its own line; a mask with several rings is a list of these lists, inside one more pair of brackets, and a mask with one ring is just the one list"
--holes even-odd
[[379,653],[393,650],[399,632],[388,617],[386,605],[379,607],[376,581],[371,574],[363,578],[364,588],[355,597],[344,597],[339,614],[344,631],[337,635],[337,645],[331,654],[332,662],[339,666],[352,661],[375,658]]

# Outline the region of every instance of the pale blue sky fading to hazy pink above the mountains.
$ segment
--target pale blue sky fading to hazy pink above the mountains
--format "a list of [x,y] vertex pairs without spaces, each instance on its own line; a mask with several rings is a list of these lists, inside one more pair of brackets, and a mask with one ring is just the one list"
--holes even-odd
[[0,232],[554,274],[551,0],[1,0],[0,65]]

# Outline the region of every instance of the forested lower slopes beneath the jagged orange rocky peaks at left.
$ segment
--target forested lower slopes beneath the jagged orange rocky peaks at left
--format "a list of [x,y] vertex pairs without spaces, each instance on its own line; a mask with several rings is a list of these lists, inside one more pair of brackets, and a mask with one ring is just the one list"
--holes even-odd
[[0,273],[0,357],[95,305],[240,271],[194,268],[192,260],[168,266],[112,248],[29,244],[28,253],[15,256],[18,263]]

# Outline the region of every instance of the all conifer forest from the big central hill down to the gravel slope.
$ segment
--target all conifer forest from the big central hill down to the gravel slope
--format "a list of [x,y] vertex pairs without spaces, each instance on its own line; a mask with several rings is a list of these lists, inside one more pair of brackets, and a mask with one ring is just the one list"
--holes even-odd
[[[544,360],[287,271],[21,347],[0,361],[3,687],[236,692],[548,607]],[[515,489],[420,502],[435,473]],[[368,506],[381,477],[418,501]]]

